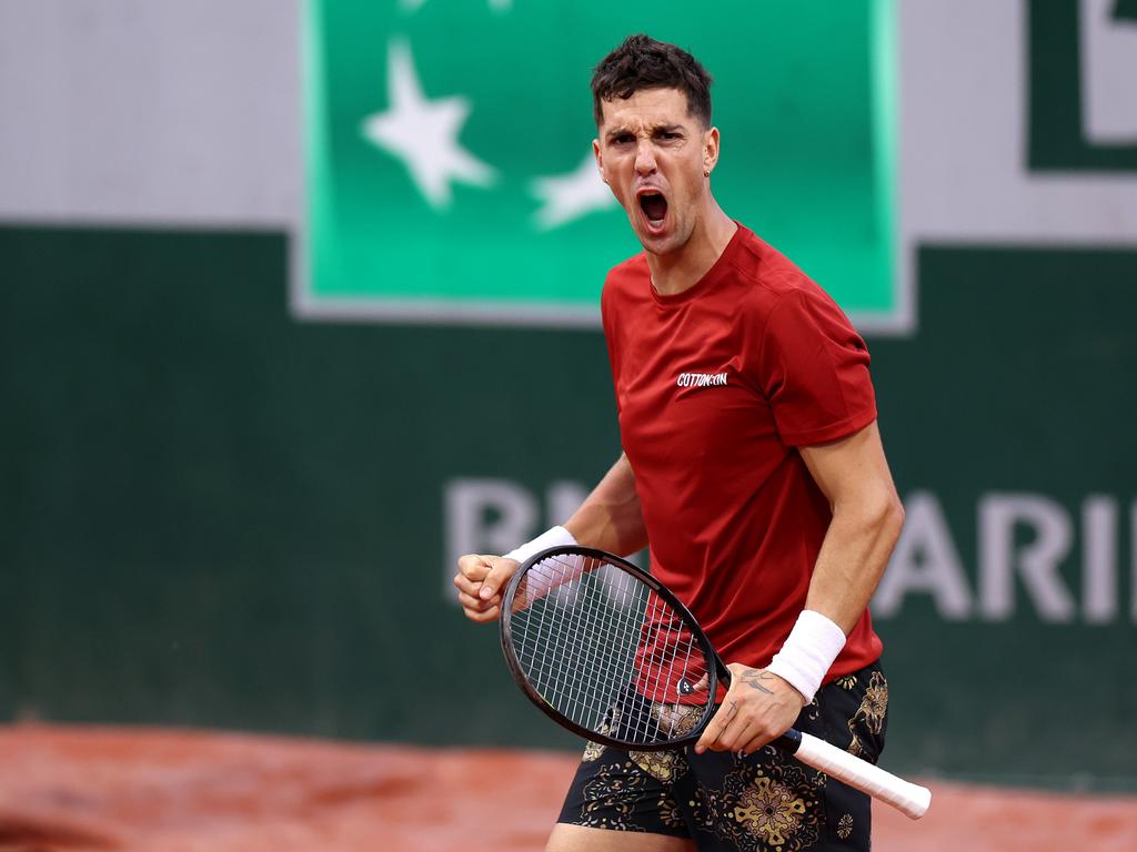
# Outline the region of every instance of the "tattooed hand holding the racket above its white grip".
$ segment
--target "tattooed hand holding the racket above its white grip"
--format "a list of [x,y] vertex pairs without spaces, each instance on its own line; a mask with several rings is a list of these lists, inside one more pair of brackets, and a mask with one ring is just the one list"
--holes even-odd
[[785,734],[805,705],[797,690],[772,671],[730,663],[730,688],[695,753],[740,751],[753,754],[771,740]]

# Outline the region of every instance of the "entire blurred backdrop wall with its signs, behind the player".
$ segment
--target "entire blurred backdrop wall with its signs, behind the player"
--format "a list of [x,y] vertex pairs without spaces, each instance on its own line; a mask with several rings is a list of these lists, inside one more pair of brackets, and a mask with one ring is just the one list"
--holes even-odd
[[0,0],[0,719],[576,747],[449,578],[620,452],[637,31],[869,342],[889,768],[1137,791],[1131,0]]

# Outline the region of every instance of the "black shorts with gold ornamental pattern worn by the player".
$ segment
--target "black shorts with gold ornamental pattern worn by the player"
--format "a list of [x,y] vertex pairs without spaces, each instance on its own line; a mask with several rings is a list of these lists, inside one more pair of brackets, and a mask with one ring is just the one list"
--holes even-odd
[[[818,691],[794,726],[877,762],[888,684],[879,665]],[[690,837],[699,850],[868,850],[869,796],[773,746],[738,753],[584,749],[561,822]]]

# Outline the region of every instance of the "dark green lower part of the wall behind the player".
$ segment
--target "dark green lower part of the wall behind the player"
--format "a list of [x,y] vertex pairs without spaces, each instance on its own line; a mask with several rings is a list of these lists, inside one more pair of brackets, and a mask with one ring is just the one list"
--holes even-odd
[[[446,600],[443,492],[603,474],[600,335],[297,321],[288,254],[280,233],[0,227],[0,716],[575,747]],[[911,588],[879,619],[886,762],[1137,788],[1137,251],[918,267],[919,332],[870,339],[881,427],[966,600]],[[1069,519],[1065,616],[1019,568],[1010,612],[984,592],[982,507],[1023,494]],[[1093,500],[1115,525],[1090,545]],[[1012,556],[1040,535],[1012,533]],[[1089,561],[1113,583],[1096,615]]]

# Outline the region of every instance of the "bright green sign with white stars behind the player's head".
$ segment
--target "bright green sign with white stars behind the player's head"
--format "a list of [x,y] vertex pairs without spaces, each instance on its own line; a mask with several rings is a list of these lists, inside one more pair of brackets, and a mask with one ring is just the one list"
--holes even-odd
[[591,154],[589,80],[636,32],[715,77],[724,209],[862,328],[896,325],[882,0],[308,0],[306,316],[595,327],[639,250]]

